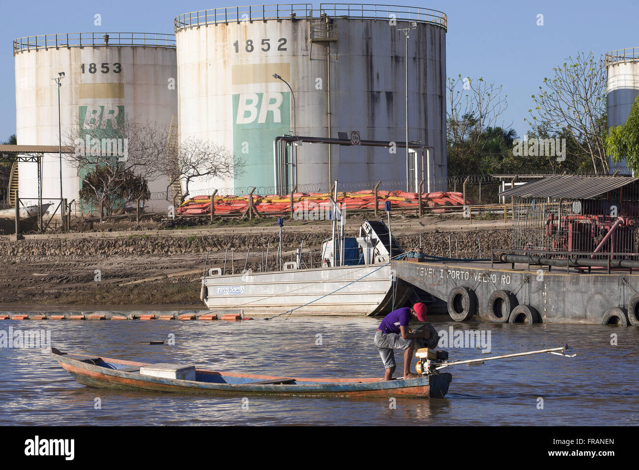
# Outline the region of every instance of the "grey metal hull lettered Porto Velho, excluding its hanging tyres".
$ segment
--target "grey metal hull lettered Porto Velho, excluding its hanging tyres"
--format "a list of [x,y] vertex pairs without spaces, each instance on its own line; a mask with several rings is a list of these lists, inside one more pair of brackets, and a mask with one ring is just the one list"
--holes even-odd
[[[451,291],[463,286],[475,294],[475,318],[495,321],[489,316],[494,308],[491,295],[505,290],[516,298],[516,305],[534,308],[542,323],[608,324],[606,313],[620,308],[627,324],[637,322],[639,310],[639,274],[635,271],[606,270],[574,272],[573,269],[540,267],[525,263],[490,262],[416,262],[394,261],[397,277],[448,302]],[[635,297],[636,296],[636,297]],[[633,299],[634,297],[634,299]]]

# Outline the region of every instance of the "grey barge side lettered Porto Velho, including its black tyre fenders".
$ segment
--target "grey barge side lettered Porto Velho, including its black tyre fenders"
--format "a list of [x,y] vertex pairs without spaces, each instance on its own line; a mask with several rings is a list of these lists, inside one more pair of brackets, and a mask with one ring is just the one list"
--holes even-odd
[[639,325],[639,269],[585,268],[570,258],[552,266],[408,258],[392,268],[446,302],[457,321]]

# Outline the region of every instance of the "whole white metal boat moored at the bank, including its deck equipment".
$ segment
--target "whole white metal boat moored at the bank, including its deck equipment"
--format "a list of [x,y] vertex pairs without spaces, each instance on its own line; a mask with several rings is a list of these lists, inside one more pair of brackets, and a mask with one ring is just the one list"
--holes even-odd
[[[299,269],[299,262],[291,262],[282,270],[231,275],[205,269],[201,299],[212,311],[242,310],[244,315],[385,315],[413,294],[413,286],[397,279],[391,268],[389,237],[385,224],[366,221],[350,243],[339,237],[323,244],[323,267]],[[397,256],[401,247],[390,239]],[[344,246],[358,253],[357,263],[339,262],[348,260]]]

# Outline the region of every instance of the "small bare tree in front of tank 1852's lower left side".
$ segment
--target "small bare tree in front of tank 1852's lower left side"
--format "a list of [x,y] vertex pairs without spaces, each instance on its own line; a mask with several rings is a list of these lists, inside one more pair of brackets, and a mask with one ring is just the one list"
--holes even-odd
[[190,195],[189,185],[198,178],[232,178],[243,173],[244,162],[235,159],[233,152],[224,146],[188,137],[180,143],[176,153],[169,157],[169,184],[166,194],[174,183],[180,181],[183,191],[180,205]]

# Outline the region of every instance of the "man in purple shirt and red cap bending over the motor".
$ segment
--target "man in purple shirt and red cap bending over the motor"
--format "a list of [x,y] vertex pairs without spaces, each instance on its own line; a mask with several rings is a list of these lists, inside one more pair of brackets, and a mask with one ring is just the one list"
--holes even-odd
[[384,363],[386,373],[383,380],[392,380],[393,372],[397,366],[394,349],[404,350],[404,379],[420,377],[410,372],[410,363],[413,359],[415,341],[420,338],[430,338],[431,331],[426,329],[422,333],[414,333],[408,328],[410,320],[426,321],[427,307],[422,302],[413,305],[413,308],[398,308],[390,312],[381,321],[380,327],[375,333],[375,347],[380,352],[381,361]]

